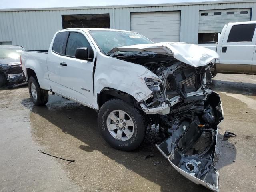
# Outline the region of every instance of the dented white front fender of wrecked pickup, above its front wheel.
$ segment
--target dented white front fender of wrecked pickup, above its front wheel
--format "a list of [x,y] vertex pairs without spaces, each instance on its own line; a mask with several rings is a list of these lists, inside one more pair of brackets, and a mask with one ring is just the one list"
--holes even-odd
[[150,98],[152,93],[145,83],[145,78],[161,82],[156,74],[144,66],[117,60],[102,54],[97,55],[96,69],[94,76],[94,80],[97,82],[94,85],[95,105],[97,105],[97,94],[106,87],[122,90],[122,92],[133,96],[137,102],[140,102]]

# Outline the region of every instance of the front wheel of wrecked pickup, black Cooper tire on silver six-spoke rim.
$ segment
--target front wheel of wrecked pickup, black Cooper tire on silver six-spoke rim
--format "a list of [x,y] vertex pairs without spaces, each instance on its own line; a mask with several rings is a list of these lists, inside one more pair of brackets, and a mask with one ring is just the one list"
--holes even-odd
[[[122,112],[125,113],[123,121],[120,118]],[[116,114],[116,121],[111,119],[113,114]],[[118,120],[121,121],[118,122]],[[127,125],[123,126],[125,122]],[[109,131],[110,128],[114,129],[116,124],[118,124],[118,128]],[[133,124],[133,126],[128,126],[130,124]],[[122,130],[120,130],[121,126]],[[144,116],[137,108],[120,99],[111,99],[102,105],[98,113],[98,127],[103,138],[110,146],[123,151],[132,151],[138,148],[146,135]],[[122,131],[122,134],[118,134],[120,131]],[[129,135],[131,132],[132,134]],[[115,134],[116,136],[114,136]]]

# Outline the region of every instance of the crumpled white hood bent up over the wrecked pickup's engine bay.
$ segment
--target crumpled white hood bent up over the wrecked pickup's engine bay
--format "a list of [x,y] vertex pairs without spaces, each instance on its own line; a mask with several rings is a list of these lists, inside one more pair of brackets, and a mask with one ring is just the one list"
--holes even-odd
[[183,42],[161,42],[154,44],[139,44],[113,48],[109,54],[117,51],[150,51],[158,54],[173,56],[177,60],[184,62],[194,67],[200,67],[209,64],[214,59],[219,59],[220,56],[213,50],[202,46],[183,43]]

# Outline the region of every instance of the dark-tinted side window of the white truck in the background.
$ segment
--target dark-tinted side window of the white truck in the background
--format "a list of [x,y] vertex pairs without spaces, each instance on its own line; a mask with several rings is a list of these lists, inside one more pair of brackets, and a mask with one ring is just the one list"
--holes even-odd
[[232,26],[227,42],[252,42],[255,27],[255,23]]

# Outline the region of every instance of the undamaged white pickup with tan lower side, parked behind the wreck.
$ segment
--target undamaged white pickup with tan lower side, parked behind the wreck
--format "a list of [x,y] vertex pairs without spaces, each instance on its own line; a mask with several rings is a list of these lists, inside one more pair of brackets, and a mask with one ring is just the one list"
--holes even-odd
[[199,44],[216,51],[212,74],[218,72],[256,73],[256,21],[228,23],[222,29],[218,43]]

